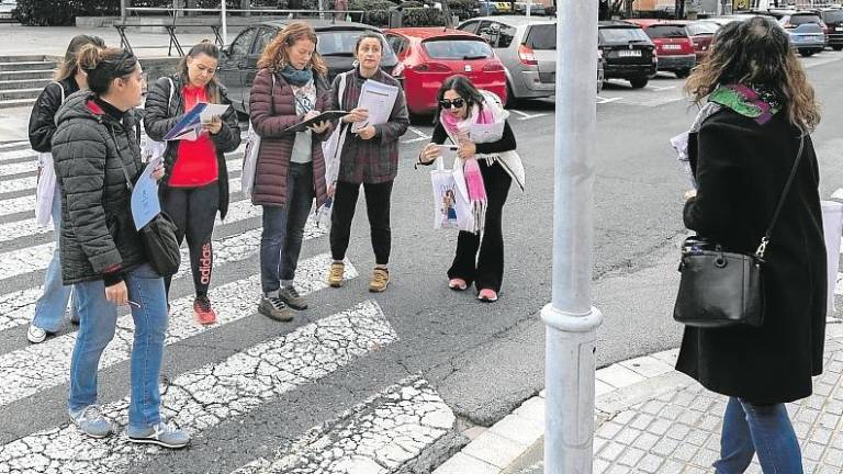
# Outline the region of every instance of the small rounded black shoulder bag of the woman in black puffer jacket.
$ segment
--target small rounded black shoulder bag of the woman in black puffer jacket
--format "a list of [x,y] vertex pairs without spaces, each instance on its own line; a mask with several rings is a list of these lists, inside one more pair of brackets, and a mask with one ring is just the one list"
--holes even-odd
[[[114,140],[114,145],[116,146],[116,139]],[[132,178],[128,176],[123,159],[120,157],[119,159],[120,166],[123,168],[123,176],[126,178],[126,188],[128,188],[131,194],[135,187],[132,184]],[[181,264],[179,240],[176,238],[177,228],[178,227],[176,226],[176,223],[172,222],[172,218],[166,212],[161,211],[139,230],[144,253],[146,255],[146,258],[149,259],[149,264],[155,272],[161,276],[176,274]]]

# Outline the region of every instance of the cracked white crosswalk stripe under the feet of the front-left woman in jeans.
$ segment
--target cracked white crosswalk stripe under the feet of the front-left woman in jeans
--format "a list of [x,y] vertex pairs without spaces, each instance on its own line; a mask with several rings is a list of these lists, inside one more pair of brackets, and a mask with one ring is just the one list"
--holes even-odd
[[[378,303],[367,301],[247,348],[221,363],[182,373],[161,397],[161,415],[196,436],[396,340]],[[126,397],[104,405],[102,413],[125,425],[127,407]],[[116,474],[127,472],[133,462],[166,452],[131,444],[123,433],[92,439],[66,424],[0,447],[0,467],[8,474],[45,470]]]

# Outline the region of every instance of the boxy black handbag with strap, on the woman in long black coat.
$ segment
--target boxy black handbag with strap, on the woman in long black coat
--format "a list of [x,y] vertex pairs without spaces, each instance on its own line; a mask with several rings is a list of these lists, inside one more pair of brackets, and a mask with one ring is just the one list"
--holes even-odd
[[720,244],[701,237],[685,239],[679,291],[673,308],[676,321],[700,328],[764,324],[764,253],[796,177],[803,147],[802,137],[773,218],[754,253],[726,251]]

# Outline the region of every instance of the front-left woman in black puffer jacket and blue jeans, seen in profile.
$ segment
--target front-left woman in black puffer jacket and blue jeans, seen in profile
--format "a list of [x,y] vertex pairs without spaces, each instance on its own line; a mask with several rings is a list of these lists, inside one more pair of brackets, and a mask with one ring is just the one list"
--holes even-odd
[[[144,88],[140,64],[125,49],[87,45],[79,53],[79,66],[90,90],[67,99],[56,114],[53,136],[61,190],[61,278],[74,284],[81,323],[70,359],[68,411],[90,437],[114,432],[114,422],[97,406],[97,369],[114,337],[117,307],[128,306],[134,320],[128,441],[181,448],[190,437],[160,416],[158,380],[167,331],[164,280],[144,255],[130,210],[127,181],[137,181],[144,169],[134,113]],[[158,168],[153,178],[162,174]]]

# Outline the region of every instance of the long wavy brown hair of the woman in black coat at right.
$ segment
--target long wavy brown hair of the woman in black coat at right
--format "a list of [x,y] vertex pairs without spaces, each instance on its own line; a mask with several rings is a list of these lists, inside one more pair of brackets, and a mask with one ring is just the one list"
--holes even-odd
[[685,92],[699,104],[718,86],[729,83],[769,88],[782,100],[790,124],[802,133],[820,123],[813,88],[787,32],[773,20],[753,16],[724,25],[715,35],[707,58],[685,82]]

